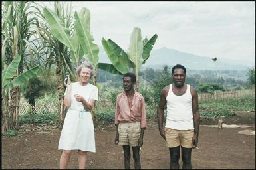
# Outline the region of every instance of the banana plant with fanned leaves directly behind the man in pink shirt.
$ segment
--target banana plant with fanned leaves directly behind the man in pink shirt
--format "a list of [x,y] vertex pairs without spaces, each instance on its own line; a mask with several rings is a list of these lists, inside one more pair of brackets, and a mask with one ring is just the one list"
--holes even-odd
[[[102,45],[112,64],[99,63],[98,68],[113,74],[125,74],[132,68],[138,80],[138,72],[142,64],[148,60],[157,38],[158,35],[155,34],[149,40],[147,37],[142,40],[140,28],[135,27],[130,38],[128,52],[125,52],[111,39],[102,38]],[[138,82],[136,82],[136,90],[138,91]]]

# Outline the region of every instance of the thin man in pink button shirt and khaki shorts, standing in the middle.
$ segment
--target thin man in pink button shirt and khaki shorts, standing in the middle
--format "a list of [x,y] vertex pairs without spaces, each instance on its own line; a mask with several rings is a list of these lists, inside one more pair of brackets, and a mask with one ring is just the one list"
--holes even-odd
[[116,139],[114,143],[124,149],[124,168],[130,169],[130,146],[132,147],[134,169],[141,169],[140,147],[146,129],[146,108],[144,97],[134,90],[135,74],[128,72],[123,76],[124,92],[116,97]]

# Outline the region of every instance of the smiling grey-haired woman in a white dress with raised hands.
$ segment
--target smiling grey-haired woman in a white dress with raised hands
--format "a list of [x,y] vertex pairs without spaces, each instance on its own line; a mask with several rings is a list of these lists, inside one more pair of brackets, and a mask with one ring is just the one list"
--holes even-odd
[[[90,110],[98,100],[98,88],[88,82],[93,74],[90,63],[84,62],[76,72],[80,80],[66,84],[64,105],[68,108],[58,149],[62,149],[60,169],[68,167],[72,150],[78,150],[79,169],[85,169],[87,152],[95,152],[94,125]],[[65,81],[66,82],[66,81]]]

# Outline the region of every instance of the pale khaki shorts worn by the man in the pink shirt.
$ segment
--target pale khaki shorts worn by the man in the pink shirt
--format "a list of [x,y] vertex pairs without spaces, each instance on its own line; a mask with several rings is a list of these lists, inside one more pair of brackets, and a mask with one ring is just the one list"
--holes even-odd
[[140,131],[140,122],[120,122],[118,125],[118,145],[130,145],[132,147],[138,146]]

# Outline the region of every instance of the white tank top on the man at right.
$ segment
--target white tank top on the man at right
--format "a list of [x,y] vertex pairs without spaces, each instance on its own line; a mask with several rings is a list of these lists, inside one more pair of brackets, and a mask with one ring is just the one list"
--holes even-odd
[[172,84],[170,84],[166,100],[166,128],[177,130],[194,129],[190,85],[187,84],[187,90],[182,96],[177,96],[172,92]]

